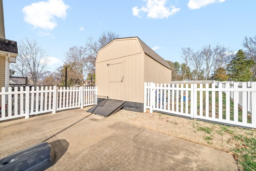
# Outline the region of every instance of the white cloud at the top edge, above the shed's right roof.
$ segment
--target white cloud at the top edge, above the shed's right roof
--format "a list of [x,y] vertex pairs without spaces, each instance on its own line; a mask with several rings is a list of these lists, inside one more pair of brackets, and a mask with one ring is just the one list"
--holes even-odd
[[142,13],[147,13],[148,18],[168,18],[176,12],[180,11],[180,8],[175,6],[166,7],[167,0],[147,0],[146,6],[138,8],[135,6],[132,8],[132,15],[141,18]]

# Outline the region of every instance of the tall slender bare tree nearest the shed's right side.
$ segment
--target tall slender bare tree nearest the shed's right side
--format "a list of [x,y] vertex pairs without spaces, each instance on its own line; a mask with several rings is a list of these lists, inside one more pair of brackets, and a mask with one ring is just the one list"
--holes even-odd
[[182,80],[188,75],[188,63],[191,58],[191,55],[193,54],[193,50],[191,48],[181,48],[181,58],[184,60],[183,61],[183,70],[182,70]]

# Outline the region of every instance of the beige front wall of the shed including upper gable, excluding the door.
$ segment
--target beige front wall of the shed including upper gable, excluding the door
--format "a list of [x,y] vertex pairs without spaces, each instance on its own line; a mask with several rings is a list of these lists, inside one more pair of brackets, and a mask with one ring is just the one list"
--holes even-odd
[[[100,58],[98,58],[100,56]],[[143,103],[144,53],[137,38],[115,40],[98,52],[96,59],[96,86],[98,97],[106,98],[108,94],[107,64],[123,61],[124,99]],[[111,98],[111,97],[110,97]]]

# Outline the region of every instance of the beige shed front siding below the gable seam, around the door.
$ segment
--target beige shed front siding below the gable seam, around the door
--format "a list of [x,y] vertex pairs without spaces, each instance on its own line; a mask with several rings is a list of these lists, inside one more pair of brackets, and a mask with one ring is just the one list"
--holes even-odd
[[[135,54],[129,57],[122,57],[113,60],[96,63],[96,86],[98,86],[98,97],[106,98],[108,94],[108,66],[107,64],[123,61],[124,64],[124,99],[143,103],[143,75],[144,59],[143,54]],[[130,68],[130,69],[129,69]],[[110,97],[111,98],[111,97]]]

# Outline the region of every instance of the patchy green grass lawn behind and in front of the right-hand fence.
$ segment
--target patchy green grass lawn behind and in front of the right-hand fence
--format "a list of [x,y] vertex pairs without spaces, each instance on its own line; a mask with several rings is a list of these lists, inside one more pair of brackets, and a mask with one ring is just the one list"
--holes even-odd
[[[189,85],[190,87],[190,85]],[[203,84],[203,87],[205,87],[205,84]],[[211,87],[211,84],[209,84],[209,87]],[[198,85],[199,88],[199,85]],[[190,95],[190,92],[189,92]],[[203,99],[203,108],[202,108],[202,115],[206,116],[206,91],[203,91],[202,93],[202,99]],[[208,105],[208,111],[209,111],[209,117],[212,117],[212,91],[208,92],[208,99],[209,99],[209,105]],[[226,101],[229,100],[230,107],[226,106]],[[179,106],[181,103],[179,102]],[[190,113],[190,101],[188,103],[188,113]],[[170,105],[170,108],[172,108],[172,105]],[[175,102],[175,108],[176,111],[176,102]],[[181,108],[179,107],[179,111]],[[200,113],[200,92],[198,91],[197,95],[197,111],[198,115]],[[227,97],[224,92],[222,92],[222,119],[226,119],[226,111],[230,113],[230,120],[234,121],[234,102],[230,97]],[[183,108],[183,112],[185,112],[185,105]],[[219,92],[215,92],[215,116],[216,118],[219,118]],[[238,106],[238,121],[242,121],[242,108]],[[247,123],[251,123],[251,117],[248,115],[247,117]],[[213,123],[211,123],[213,124]],[[219,125],[218,129],[213,129],[212,127],[201,127],[200,125],[196,126],[196,131],[203,131],[205,132],[206,136],[204,136],[204,140],[207,141],[207,143],[211,143],[214,139],[214,134],[229,134],[231,136],[230,141],[235,142],[234,147],[230,147],[229,153],[231,153],[234,158],[236,159],[236,162],[240,168],[240,170],[245,171],[256,171],[256,129],[244,129],[244,131],[236,131],[236,127],[226,126],[226,125]],[[215,130],[215,131],[214,131]],[[244,133],[246,132],[246,133]]]

